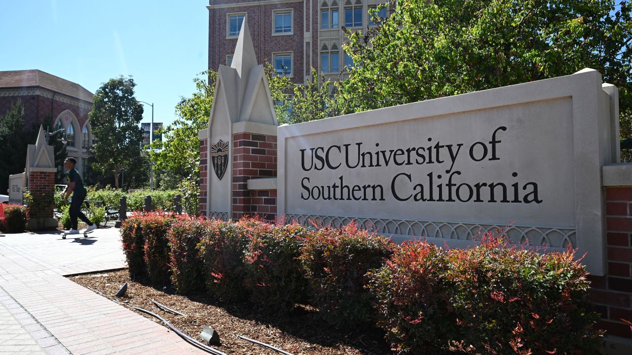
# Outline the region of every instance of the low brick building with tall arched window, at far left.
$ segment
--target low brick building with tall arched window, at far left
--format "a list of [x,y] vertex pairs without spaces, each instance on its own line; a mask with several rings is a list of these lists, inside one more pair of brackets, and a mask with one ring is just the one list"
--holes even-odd
[[41,70],[0,71],[0,116],[17,100],[21,100],[24,107],[27,127],[42,123],[50,115],[52,127],[49,130],[66,129],[68,156],[77,159],[76,169],[84,176],[93,139],[88,122],[92,96],[81,85]]

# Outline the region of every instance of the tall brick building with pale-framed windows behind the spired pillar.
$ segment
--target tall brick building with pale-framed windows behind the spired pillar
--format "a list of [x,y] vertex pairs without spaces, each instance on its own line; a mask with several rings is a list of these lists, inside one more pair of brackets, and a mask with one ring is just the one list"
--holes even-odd
[[[342,27],[374,26],[368,11],[384,0],[209,0],[209,69],[230,66],[243,18],[255,54],[295,83],[317,68],[324,78],[344,77],[351,58],[343,51]],[[386,16],[387,9],[380,11]]]

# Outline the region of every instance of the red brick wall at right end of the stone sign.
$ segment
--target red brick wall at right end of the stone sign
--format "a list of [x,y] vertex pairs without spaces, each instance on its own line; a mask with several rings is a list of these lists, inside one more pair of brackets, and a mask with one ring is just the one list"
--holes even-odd
[[602,320],[599,327],[607,334],[631,338],[632,321],[632,186],[607,187],[605,194],[607,229],[607,274],[590,276],[590,299]]

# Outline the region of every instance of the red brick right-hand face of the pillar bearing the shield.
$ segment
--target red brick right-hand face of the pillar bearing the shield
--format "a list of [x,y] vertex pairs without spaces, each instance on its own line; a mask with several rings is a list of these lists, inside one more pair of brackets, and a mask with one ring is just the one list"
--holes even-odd
[[[276,135],[246,132],[233,134],[233,219],[259,212],[258,206],[253,208],[253,197],[262,196],[258,196],[258,193],[253,196],[248,190],[248,180],[276,177],[276,142]],[[274,194],[276,212],[276,191]]]

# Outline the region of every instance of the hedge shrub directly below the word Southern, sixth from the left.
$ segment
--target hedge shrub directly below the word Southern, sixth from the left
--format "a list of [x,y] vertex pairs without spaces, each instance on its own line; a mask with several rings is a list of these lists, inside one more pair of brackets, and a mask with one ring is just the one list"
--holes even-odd
[[301,260],[319,315],[345,328],[374,324],[374,296],[365,289],[365,275],[382,266],[393,248],[389,239],[361,231],[353,223],[320,229],[307,238]]

